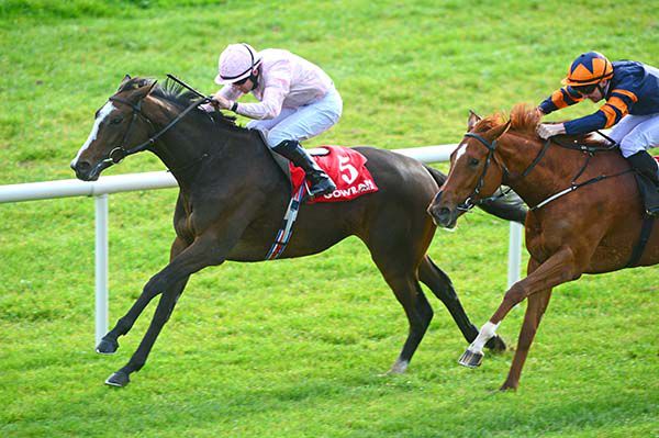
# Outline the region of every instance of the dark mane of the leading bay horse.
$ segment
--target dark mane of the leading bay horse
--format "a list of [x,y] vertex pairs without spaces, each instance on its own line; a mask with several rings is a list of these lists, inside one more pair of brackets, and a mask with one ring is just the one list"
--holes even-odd
[[[136,89],[139,87],[145,87],[154,83],[154,79],[144,79],[144,78],[132,78],[129,81],[124,82],[118,90],[119,92]],[[188,90],[183,86],[170,80],[169,78],[165,80],[165,83],[157,83],[156,87],[152,90],[152,97],[161,99],[182,111],[193,102],[199,101],[200,98],[194,92]],[[197,109],[190,113],[190,116],[203,117],[205,121],[212,120],[214,124],[220,124],[224,127],[244,130],[244,127],[238,126],[236,124],[236,117],[224,115],[220,111],[213,111],[212,113],[206,113],[201,109]],[[210,120],[209,120],[210,116]]]

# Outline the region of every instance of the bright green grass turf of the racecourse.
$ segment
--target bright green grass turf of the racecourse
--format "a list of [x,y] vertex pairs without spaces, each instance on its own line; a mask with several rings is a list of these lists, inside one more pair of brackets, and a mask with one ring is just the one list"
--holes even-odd
[[[0,1],[0,184],[72,178],[124,74],[174,72],[210,93],[236,41],[289,48],[333,77],[344,116],[308,146],[455,143],[468,109],[539,102],[581,52],[659,64],[657,1],[174,3]],[[159,169],[144,154],[107,175]],[[175,199],[110,198],[111,324],[167,262]],[[506,251],[507,224],[484,213],[431,247],[477,325],[501,300]],[[93,202],[0,205],[0,260],[2,437],[659,436],[656,267],[558,288],[520,391],[502,394],[512,352],[458,367],[465,341],[431,296],[409,372],[380,377],[406,321],[355,238],[304,259],[227,262],[192,278],[147,366],[115,391],[102,382],[154,306],[115,356],[93,352]],[[500,328],[511,345],[523,311]]]

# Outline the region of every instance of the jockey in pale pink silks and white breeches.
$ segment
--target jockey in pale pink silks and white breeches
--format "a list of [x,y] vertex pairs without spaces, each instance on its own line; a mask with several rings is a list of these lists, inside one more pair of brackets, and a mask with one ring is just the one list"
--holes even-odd
[[[220,55],[215,82],[224,87],[211,105],[254,119],[248,128],[264,133],[277,154],[302,168],[311,182],[311,198],[332,193],[336,186],[315,164],[301,141],[314,137],[340,117],[343,101],[332,79],[315,64],[288,50],[255,50],[248,44],[231,44]],[[257,103],[239,103],[243,94]]]

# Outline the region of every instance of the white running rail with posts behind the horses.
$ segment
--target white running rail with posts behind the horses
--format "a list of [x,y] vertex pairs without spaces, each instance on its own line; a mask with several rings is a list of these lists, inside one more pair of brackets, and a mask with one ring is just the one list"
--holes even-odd
[[[423,162],[448,161],[457,145],[395,149]],[[0,186],[0,203],[68,196],[94,196],[96,200],[96,342],[108,332],[108,194],[135,190],[177,187],[166,171],[101,177],[98,181],[59,180]],[[509,239],[509,288],[520,280],[522,226],[511,222]]]

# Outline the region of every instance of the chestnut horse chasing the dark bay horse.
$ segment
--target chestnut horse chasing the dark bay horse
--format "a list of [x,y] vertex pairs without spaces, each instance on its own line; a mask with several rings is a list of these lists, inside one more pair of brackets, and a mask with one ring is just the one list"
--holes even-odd
[[[472,114],[469,132],[451,156],[448,179],[428,209],[438,225],[450,228],[460,214],[502,183],[513,188],[530,207],[525,223],[530,255],[527,277],[505,293],[460,358],[461,364],[478,367],[482,347],[501,321],[515,304],[528,299],[502,390],[514,390],[520,383],[552,288],[583,273],[611,272],[628,263],[659,263],[659,226],[649,235],[643,255],[632,261],[645,221],[644,207],[629,165],[617,149],[590,154],[559,147],[537,136],[538,123],[539,114],[525,105],[516,105],[509,122],[499,115],[480,120]],[[591,138],[561,137],[561,143],[603,146]],[[576,186],[580,187],[572,189]]]

